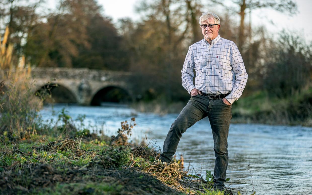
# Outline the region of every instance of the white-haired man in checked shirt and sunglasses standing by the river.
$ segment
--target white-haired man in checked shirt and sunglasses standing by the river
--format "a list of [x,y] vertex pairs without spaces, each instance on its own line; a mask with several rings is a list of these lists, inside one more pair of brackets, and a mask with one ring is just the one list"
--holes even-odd
[[203,13],[199,24],[204,39],[188,48],[181,71],[182,85],[191,98],[171,125],[160,160],[170,162],[186,129],[208,116],[216,156],[213,189],[223,190],[232,103],[241,96],[248,76],[237,46],[219,35],[220,18],[214,13]]

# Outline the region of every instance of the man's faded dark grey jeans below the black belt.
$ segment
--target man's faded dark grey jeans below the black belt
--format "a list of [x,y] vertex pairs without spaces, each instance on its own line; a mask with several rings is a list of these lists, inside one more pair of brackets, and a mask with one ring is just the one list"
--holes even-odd
[[213,100],[202,95],[192,96],[178,115],[178,118],[171,125],[163,143],[163,154],[160,155],[160,158],[163,161],[170,162],[177,150],[182,134],[186,129],[206,116],[209,118],[212,129],[213,149],[216,156],[213,188],[223,189],[229,159],[227,136],[232,119],[232,105],[224,104],[222,99]]

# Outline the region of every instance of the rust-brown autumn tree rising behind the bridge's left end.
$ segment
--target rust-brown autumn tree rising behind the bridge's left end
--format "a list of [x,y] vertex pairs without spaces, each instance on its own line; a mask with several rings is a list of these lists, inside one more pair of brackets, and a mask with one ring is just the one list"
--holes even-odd
[[72,67],[72,57],[78,55],[77,45],[88,46],[86,20],[79,10],[71,9],[71,3],[60,2],[59,13],[50,13],[47,22],[40,22],[30,32],[25,53],[32,64]]

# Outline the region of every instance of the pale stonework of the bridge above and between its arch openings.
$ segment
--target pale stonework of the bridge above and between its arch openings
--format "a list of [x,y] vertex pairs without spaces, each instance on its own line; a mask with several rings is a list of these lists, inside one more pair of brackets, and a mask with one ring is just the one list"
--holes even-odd
[[123,89],[134,99],[130,72],[90,70],[88,68],[33,68],[32,77],[37,89],[47,83],[58,84],[75,96],[80,105],[90,105],[95,94],[106,87]]

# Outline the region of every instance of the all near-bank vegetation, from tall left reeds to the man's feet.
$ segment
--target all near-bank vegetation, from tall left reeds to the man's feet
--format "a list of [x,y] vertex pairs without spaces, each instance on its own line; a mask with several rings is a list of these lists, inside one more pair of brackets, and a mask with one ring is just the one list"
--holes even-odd
[[64,109],[57,121],[43,121],[38,111],[49,85],[33,91],[25,59],[12,66],[0,46],[0,194],[233,194],[210,191],[209,171],[188,174],[183,159],[161,163],[152,144],[129,142],[135,118],[111,137]]

